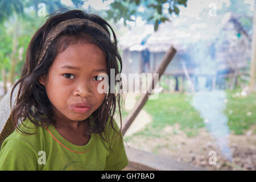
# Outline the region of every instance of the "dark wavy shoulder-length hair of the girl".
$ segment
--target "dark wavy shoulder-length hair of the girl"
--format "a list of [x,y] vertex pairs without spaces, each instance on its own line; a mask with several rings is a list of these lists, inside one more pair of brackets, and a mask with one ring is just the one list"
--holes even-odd
[[[97,24],[100,24],[109,34],[109,37],[105,35],[102,31],[89,27],[86,23],[82,26],[68,26],[65,28],[63,32],[57,36],[49,48],[47,49],[46,55],[43,57],[42,62],[38,65],[39,61],[39,52],[42,51],[43,44],[46,40],[46,37],[49,31],[52,30],[56,24],[63,22],[67,19],[73,18],[81,18],[81,19],[89,19]],[[110,39],[110,32],[112,32],[112,39]],[[61,39],[64,38],[64,39]],[[49,15],[46,23],[43,24],[42,27],[39,28],[38,31],[35,32],[32,37],[26,52],[26,62],[24,63],[24,67],[22,70],[22,74],[18,81],[15,82],[13,89],[11,90],[11,100],[13,97],[14,88],[19,84],[18,96],[15,102],[15,105],[11,112],[11,118],[13,120],[14,126],[22,133],[26,133],[22,130],[20,126],[20,121],[24,121],[24,119],[28,118],[32,123],[36,126],[43,126],[42,122],[47,126],[54,124],[53,120],[53,110],[51,102],[49,101],[46,93],[45,87],[39,83],[38,79],[48,74],[48,70],[51,67],[55,57],[58,53],[64,51],[70,44],[76,43],[78,41],[85,41],[91,44],[95,44],[98,46],[102,52],[106,55],[106,63],[107,63],[107,74],[110,78],[110,69],[115,70],[115,76],[122,71],[122,59],[119,55],[117,48],[117,38],[115,36],[113,28],[102,19],[100,16],[96,14],[86,13],[82,10],[68,10],[64,13],[53,13]],[[62,48],[62,49],[61,49]],[[119,71],[120,69],[120,71]],[[118,92],[110,93],[110,86],[108,90],[108,94],[101,106],[95,110],[92,115],[94,117],[95,126],[92,128],[92,133],[102,133],[104,131],[106,123],[110,118],[109,125],[113,126],[113,117],[115,114],[115,110],[118,105],[118,114],[121,119],[121,127],[122,127],[122,115],[121,115],[121,104],[122,104],[122,79],[115,80],[115,86],[121,85],[118,89]],[[110,79],[109,79],[110,85]],[[12,101],[11,101],[12,102]],[[47,118],[42,118],[42,115],[46,115]],[[31,117],[35,118],[32,119]],[[24,124],[23,124],[24,125]],[[115,130],[118,134],[121,131]],[[110,128],[110,127],[109,127]],[[28,134],[28,133],[26,133]],[[102,137],[102,134],[101,134]],[[104,137],[102,137],[104,139]],[[104,139],[105,140],[105,139]]]

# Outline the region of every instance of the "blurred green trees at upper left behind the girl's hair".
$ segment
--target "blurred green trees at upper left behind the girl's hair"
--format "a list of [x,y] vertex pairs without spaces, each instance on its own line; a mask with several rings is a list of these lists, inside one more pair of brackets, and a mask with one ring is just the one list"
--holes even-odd
[[[57,9],[64,7],[60,0],[0,1],[0,70],[5,69],[7,79],[11,68],[11,55],[13,55],[14,51],[14,42],[18,43],[14,55],[17,63],[14,74],[16,80],[22,71],[28,43],[40,24],[46,20],[45,17],[38,16],[39,3],[46,4],[46,14],[53,13]],[[20,55],[19,50],[22,49],[23,52]],[[0,79],[2,80],[2,76]]]

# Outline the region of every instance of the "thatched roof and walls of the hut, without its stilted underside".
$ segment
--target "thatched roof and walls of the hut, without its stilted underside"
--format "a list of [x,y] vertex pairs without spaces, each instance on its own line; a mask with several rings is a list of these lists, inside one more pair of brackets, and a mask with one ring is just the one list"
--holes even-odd
[[250,57],[250,36],[233,14],[212,19],[176,18],[152,25],[134,27],[120,40],[123,72],[142,73],[142,51],[150,51],[150,72],[160,64],[164,53],[174,46],[177,53],[164,75],[184,77],[184,65],[190,76],[217,76],[246,69]]

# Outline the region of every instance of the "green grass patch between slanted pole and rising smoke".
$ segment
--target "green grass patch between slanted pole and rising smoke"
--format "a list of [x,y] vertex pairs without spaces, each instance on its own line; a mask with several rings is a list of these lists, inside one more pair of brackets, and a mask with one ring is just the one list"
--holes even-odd
[[[180,129],[189,137],[195,136],[197,129],[204,127],[205,123],[190,104],[191,98],[189,94],[160,93],[158,99],[148,100],[143,109],[152,115],[152,123],[138,134],[160,137],[160,131],[165,126],[179,123]],[[155,132],[151,132],[152,130]]]

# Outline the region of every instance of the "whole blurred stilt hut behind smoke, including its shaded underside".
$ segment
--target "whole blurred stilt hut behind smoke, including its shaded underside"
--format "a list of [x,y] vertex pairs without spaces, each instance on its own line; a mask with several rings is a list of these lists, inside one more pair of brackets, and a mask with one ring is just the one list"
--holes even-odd
[[153,73],[173,45],[177,53],[159,83],[171,92],[236,88],[249,80],[250,44],[231,13],[208,22],[176,18],[160,23],[156,32],[152,25],[133,27],[119,41],[126,75]]

